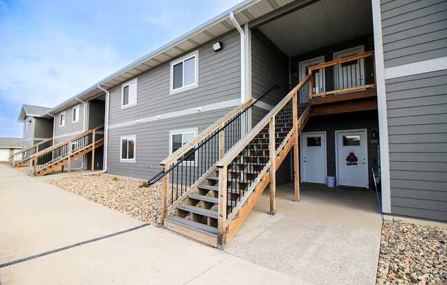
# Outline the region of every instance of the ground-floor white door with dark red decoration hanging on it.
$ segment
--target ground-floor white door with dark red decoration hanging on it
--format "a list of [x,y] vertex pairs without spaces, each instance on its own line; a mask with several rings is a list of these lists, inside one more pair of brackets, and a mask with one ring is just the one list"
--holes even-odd
[[368,188],[366,129],[336,131],[337,185]]

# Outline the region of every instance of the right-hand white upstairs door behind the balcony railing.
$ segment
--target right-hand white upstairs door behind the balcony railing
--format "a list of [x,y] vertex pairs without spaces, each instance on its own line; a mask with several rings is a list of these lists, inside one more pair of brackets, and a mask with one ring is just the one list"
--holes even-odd
[[[334,60],[348,58],[365,51],[363,45],[334,53]],[[365,85],[365,63],[363,58],[335,65],[335,90]]]

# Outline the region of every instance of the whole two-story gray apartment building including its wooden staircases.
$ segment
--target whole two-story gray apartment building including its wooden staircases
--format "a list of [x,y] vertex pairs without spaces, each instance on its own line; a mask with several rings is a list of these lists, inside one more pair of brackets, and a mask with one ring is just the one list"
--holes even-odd
[[165,225],[211,245],[251,191],[290,182],[299,200],[376,179],[383,212],[447,221],[446,90],[447,1],[248,0],[59,106],[24,105],[53,138],[24,157],[160,182]]

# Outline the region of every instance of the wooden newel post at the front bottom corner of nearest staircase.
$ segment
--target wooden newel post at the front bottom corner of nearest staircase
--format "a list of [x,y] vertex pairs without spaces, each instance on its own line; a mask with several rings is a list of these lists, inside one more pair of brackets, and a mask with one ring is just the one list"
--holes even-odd
[[219,234],[217,236],[217,245],[224,247],[226,243],[226,223],[227,223],[227,166],[219,168],[219,203],[217,208],[217,222]]

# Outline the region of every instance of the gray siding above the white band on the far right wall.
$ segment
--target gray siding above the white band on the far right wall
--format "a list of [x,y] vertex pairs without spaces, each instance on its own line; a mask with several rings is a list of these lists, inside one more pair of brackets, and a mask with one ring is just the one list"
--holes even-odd
[[447,56],[447,1],[381,3],[385,67]]

